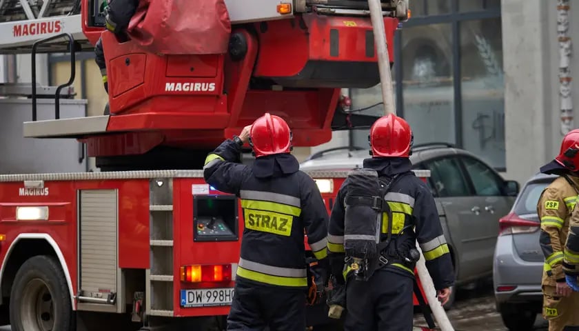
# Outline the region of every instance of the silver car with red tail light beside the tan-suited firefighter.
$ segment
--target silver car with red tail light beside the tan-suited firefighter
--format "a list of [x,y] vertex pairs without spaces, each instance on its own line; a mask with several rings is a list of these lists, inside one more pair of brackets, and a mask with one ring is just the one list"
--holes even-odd
[[557,176],[536,174],[523,185],[513,208],[500,219],[493,263],[496,307],[509,330],[531,330],[541,312],[543,255],[537,203]]

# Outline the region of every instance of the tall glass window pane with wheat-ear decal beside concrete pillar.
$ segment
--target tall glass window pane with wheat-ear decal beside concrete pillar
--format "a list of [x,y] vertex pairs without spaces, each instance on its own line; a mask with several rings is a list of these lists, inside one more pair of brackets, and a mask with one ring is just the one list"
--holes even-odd
[[463,148],[505,168],[505,94],[500,17],[460,22]]

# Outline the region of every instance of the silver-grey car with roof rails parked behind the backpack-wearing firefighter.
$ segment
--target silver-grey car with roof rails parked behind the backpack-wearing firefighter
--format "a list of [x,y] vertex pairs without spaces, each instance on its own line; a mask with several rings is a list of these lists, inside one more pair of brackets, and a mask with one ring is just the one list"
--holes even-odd
[[[368,150],[334,148],[312,154],[301,170],[351,170],[362,167]],[[474,154],[446,143],[414,146],[414,169],[430,170],[428,184],[456,271],[457,285],[489,279],[498,235],[498,219],[507,214],[518,193],[516,181],[505,181]],[[454,301],[456,290],[445,308]]]

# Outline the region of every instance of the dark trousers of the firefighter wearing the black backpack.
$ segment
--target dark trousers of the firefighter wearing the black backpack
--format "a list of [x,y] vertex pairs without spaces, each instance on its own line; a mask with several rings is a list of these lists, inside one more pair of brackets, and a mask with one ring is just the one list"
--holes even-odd
[[413,290],[412,278],[389,270],[377,270],[368,281],[349,278],[344,331],[412,330]]

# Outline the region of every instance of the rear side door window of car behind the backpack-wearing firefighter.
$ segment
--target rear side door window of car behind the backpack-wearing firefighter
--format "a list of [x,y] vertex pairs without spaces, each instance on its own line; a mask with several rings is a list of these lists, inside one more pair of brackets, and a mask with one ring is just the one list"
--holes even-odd
[[438,197],[465,197],[470,195],[467,181],[455,157],[445,157],[425,163]]

